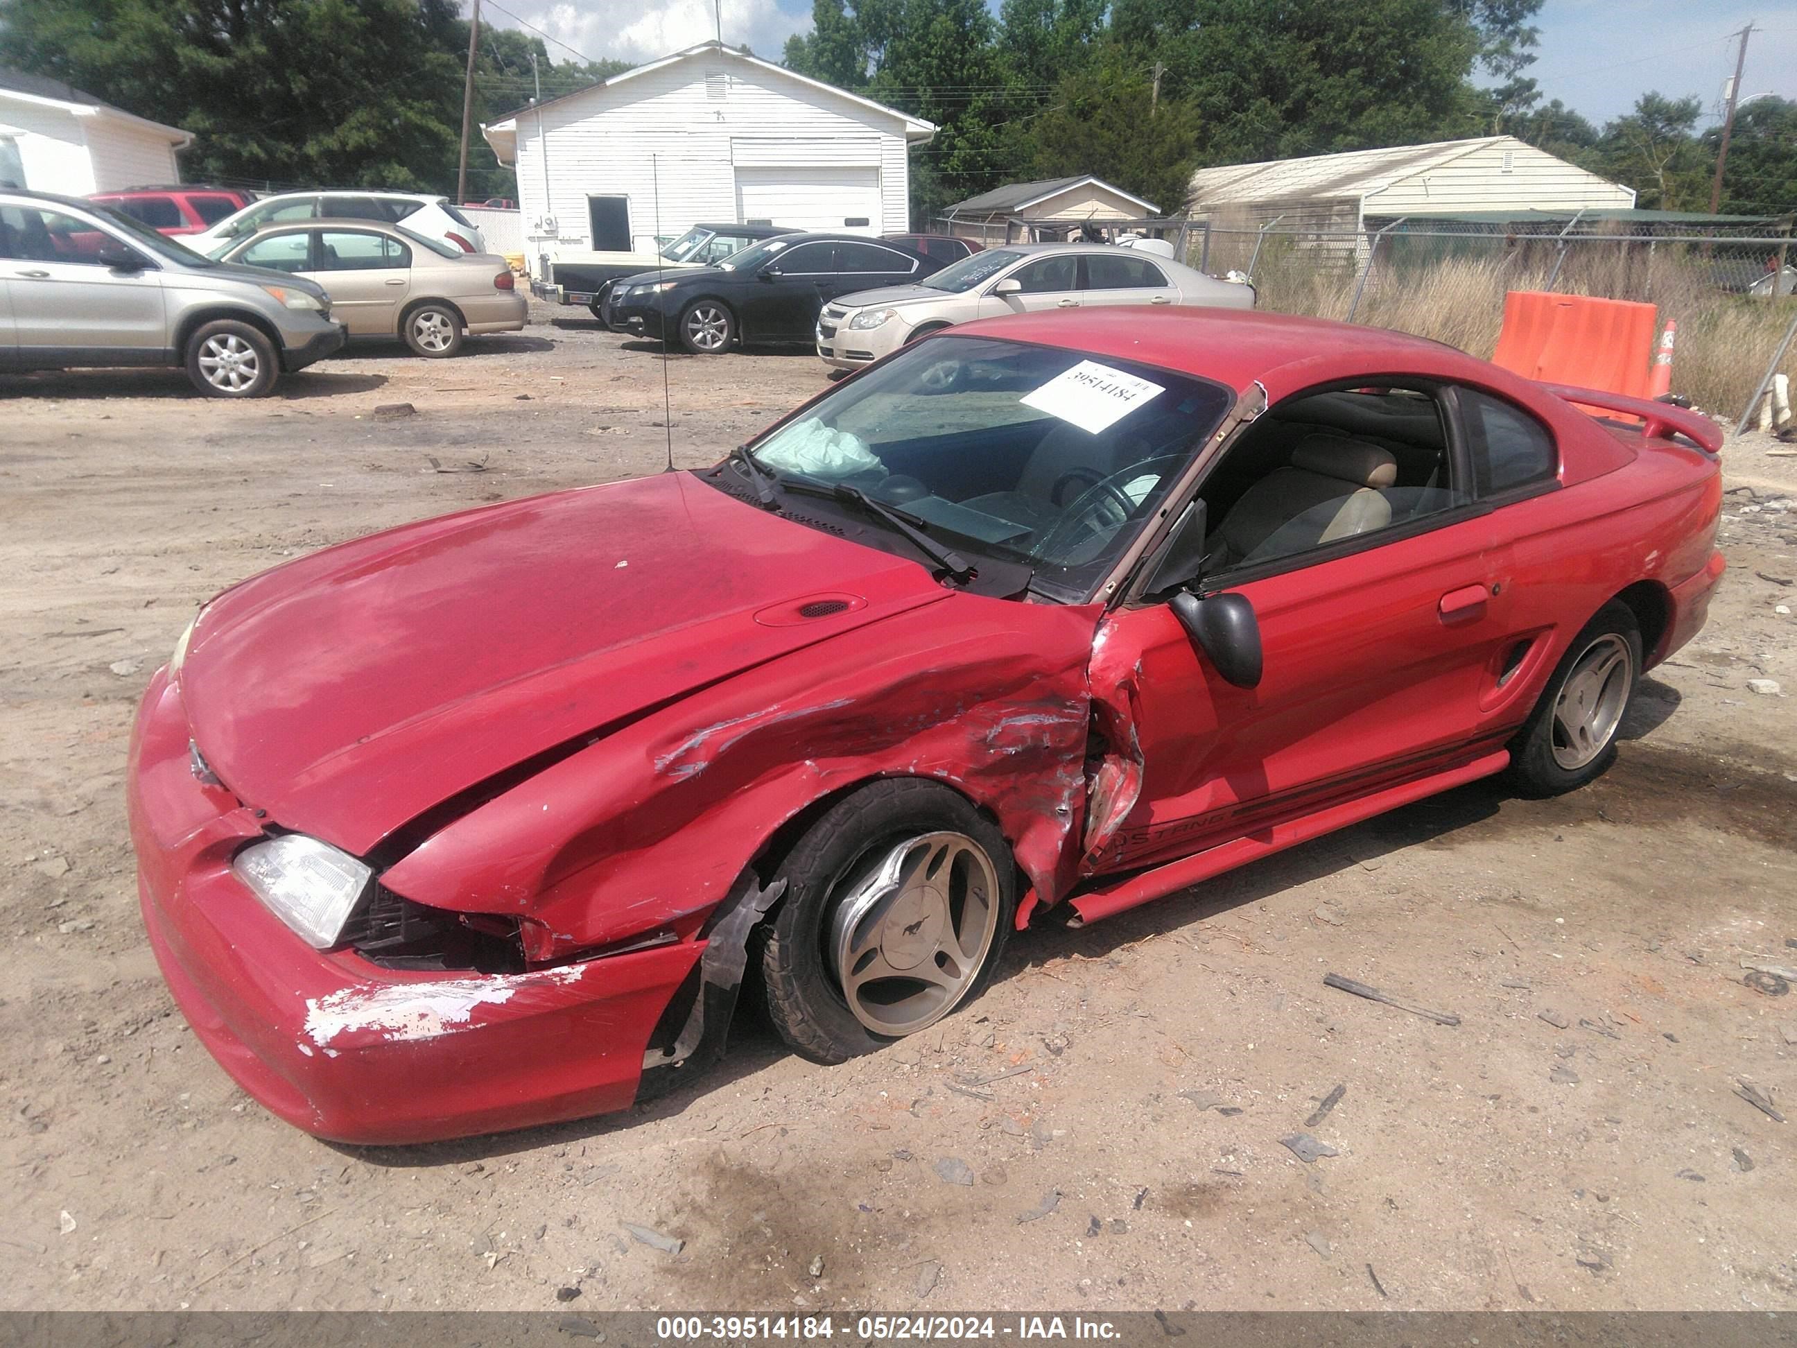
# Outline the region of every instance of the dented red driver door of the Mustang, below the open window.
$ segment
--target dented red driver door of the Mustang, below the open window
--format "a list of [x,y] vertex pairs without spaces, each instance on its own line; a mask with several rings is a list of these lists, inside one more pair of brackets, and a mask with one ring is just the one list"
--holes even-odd
[[1166,597],[1109,615],[1093,694],[1139,742],[1141,782],[1116,832],[1087,838],[1087,870],[1265,836],[1500,748],[1481,694],[1515,643],[1509,550],[1465,500],[1208,582],[1254,607],[1254,688],[1217,672]]

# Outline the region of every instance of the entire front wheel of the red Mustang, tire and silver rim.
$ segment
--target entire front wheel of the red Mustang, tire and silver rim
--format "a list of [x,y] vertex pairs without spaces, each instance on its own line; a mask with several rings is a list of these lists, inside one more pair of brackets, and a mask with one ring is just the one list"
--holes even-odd
[[916,1033],[976,998],[1017,904],[1005,836],[934,782],[890,780],[827,811],[776,872],[767,1012],[814,1062]]

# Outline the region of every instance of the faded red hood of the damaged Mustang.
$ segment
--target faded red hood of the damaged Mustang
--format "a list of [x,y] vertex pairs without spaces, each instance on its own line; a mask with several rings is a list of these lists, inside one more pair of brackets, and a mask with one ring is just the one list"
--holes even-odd
[[[805,618],[800,604],[846,600]],[[219,778],[350,852],[527,758],[947,597],[685,473],[325,548],[219,595],[180,670]]]

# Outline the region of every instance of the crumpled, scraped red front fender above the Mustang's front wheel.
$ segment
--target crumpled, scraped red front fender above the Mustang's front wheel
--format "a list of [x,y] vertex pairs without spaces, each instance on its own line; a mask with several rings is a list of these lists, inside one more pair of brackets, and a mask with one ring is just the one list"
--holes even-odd
[[442,829],[383,882],[525,917],[532,962],[690,940],[776,830],[881,776],[987,809],[1033,893],[1078,874],[1098,606],[956,593],[651,714]]

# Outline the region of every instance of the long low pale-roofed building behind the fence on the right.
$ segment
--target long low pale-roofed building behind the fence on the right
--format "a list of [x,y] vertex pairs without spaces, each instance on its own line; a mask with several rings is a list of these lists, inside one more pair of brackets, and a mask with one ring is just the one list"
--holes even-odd
[[1626,210],[1635,192],[1515,137],[1441,140],[1191,174],[1193,221],[1226,228],[1364,230],[1368,221],[1531,210]]

